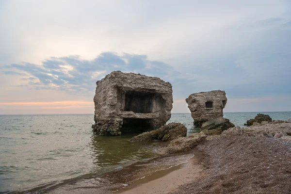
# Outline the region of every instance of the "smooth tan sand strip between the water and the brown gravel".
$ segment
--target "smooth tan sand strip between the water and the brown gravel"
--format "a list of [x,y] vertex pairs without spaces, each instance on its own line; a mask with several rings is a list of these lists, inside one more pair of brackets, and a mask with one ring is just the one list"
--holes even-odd
[[126,188],[113,194],[167,194],[175,191],[180,185],[205,177],[201,161],[203,155],[194,149],[195,156],[188,162],[161,170],[139,179]]

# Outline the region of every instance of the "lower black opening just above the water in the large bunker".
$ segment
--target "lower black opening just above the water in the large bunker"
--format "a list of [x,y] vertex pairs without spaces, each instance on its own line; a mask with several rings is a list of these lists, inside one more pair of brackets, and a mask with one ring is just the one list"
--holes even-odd
[[142,133],[152,130],[152,119],[124,118],[121,127],[122,133]]

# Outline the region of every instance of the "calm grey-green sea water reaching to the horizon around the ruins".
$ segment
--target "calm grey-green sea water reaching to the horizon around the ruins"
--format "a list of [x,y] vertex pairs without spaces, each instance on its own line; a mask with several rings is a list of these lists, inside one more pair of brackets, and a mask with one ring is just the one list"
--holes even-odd
[[[291,112],[273,112],[288,120]],[[243,126],[257,113],[225,113]],[[173,113],[169,122],[195,132],[190,113]],[[0,193],[30,191],[81,180],[157,156],[153,144],[130,143],[135,134],[93,136],[93,115],[0,115]]]

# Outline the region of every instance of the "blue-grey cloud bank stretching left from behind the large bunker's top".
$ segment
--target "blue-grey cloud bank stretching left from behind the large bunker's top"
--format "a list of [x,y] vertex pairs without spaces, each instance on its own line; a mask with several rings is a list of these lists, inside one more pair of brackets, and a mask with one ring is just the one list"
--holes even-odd
[[[114,70],[166,77],[173,72],[172,66],[160,61],[150,61],[146,55],[114,52],[101,53],[93,60],[80,56],[51,57],[41,65],[24,63],[5,65],[10,69],[4,74],[26,76],[20,87],[33,89],[63,90],[70,94],[92,95],[95,82]],[[21,72],[21,73],[19,73]]]

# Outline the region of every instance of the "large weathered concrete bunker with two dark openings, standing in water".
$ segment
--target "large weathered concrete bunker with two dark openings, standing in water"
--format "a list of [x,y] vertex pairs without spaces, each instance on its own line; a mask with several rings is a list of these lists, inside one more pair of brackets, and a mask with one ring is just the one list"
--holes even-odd
[[171,117],[172,85],[160,78],[113,71],[96,84],[92,128],[97,134],[145,132]]

